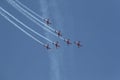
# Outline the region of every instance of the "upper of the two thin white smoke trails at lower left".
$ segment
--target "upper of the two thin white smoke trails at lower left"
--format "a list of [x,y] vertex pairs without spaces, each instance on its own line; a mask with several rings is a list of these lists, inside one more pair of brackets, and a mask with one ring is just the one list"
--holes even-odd
[[10,13],[8,13],[6,10],[4,10],[3,8],[0,8],[2,11],[4,11],[7,15],[9,15],[10,17],[12,17],[14,20],[16,20],[17,22],[19,22],[20,24],[22,24],[25,28],[29,29],[30,31],[32,31],[33,33],[37,34],[39,37],[44,38],[45,40],[49,41],[50,43],[53,43],[53,41],[51,41],[50,39],[44,37],[43,35],[39,34],[38,32],[34,31],[33,29],[31,29],[30,27],[28,27],[27,25],[25,25],[24,23],[22,23],[21,21],[19,21],[17,18],[15,18],[13,15],[11,15]]

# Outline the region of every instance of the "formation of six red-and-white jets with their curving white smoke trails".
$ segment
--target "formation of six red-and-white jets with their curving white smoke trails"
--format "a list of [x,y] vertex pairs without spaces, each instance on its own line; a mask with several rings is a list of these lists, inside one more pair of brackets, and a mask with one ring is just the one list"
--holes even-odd
[[[70,39],[67,39],[67,38],[63,37],[62,32],[60,30],[55,30],[54,28],[52,28],[51,27],[52,22],[50,21],[49,18],[43,18],[43,17],[41,17],[40,15],[38,15],[37,13],[35,13],[31,9],[29,9],[27,6],[25,6],[24,4],[22,4],[18,0],[6,0],[6,1],[11,6],[13,6],[15,9],[17,9],[20,13],[22,13],[27,18],[29,18],[32,22],[34,22],[35,24],[37,24],[38,26],[40,26],[42,29],[48,31],[52,35],[54,35],[54,36],[58,37],[59,39],[63,40],[67,45],[74,44],[78,48],[82,47],[80,41],[75,41],[75,42],[72,43],[70,41]],[[51,49],[50,44],[54,45],[56,48],[60,47],[60,43],[58,41],[54,42],[54,41],[50,40],[49,38],[47,38],[46,36],[43,36],[40,33],[36,32],[35,30],[33,30],[32,28],[30,28],[27,25],[25,25],[23,22],[21,22],[20,20],[18,20],[16,17],[14,17],[12,14],[10,14],[8,11],[6,11],[5,9],[3,9],[2,7],[0,7],[0,14],[6,20],[8,20],[10,23],[12,23],[15,27],[17,27],[22,32],[24,32],[26,35],[28,35],[29,37],[31,37],[32,39],[34,39],[35,41],[37,41],[38,43],[40,43],[42,46],[44,46],[47,50]],[[14,19],[15,21],[17,21],[18,23],[20,23],[25,28],[27,28],[30,31],[32,31],[33,33],[35,33],[36,35],[38,35],[41,38],[43,38],[46,41],[48,41],[49,44],[45,44],[45,43],[41,42],[40,40],[38,40],[37,38],[35,38],[34,36],[32,36],[30,33],[28,33],[23,28],[21,28],[19,25],[17,25],[17,23],[15,23],[14,21],[12,21],[11,18]]]

